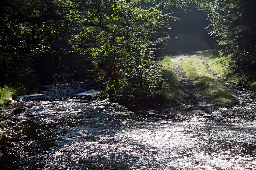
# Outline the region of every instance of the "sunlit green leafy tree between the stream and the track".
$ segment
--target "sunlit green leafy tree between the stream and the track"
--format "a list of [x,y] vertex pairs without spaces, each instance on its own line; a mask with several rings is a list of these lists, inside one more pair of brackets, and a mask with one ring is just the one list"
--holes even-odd
[[87,1],[68,16],[81,28],[70,44],[102,69],[100,79],[108,75],[106,94],[119,101],[147,98],[162,83],[153,51],[169,39],[169,20],[177,19],[173,13],[184,2],[189,1]]

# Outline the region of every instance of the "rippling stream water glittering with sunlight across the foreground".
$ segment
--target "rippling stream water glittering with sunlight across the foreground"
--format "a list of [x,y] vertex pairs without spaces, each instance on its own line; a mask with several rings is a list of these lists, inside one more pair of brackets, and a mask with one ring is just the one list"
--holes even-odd
[[28,101],[2,110],[2,169],[256,169],[256,128],[150,121],[104,101]]

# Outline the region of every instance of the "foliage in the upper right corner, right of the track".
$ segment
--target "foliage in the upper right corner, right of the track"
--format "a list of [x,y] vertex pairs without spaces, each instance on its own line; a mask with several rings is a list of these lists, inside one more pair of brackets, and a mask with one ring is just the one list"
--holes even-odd
[[211,34],[225,48],[232,62],[229,66],[246,75],[248,81],[256,78],[256,1],[255,0],[199,0],[207,11]]

